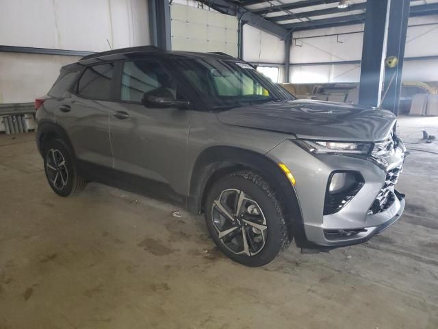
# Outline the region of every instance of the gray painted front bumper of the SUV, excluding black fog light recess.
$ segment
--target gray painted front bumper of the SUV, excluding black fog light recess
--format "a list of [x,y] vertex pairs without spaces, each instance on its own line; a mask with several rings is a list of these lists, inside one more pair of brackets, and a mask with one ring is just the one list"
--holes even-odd
[[[387,171],[402,165],[402,150],[396,151],[388,159],[386,170],[365,158],[335,154],[314,156],[291,141],[284,141],[272,149],[268,156],[277,163],[286,164],[294,175],[294,189],[302,215],[300,225],[305,234],[300,240],[309,242],[310,246],[339,247],[368,241],[402,215],[404,198],[395,191],[394,186],[391,186],[390,191],[394,202],[385,210],[368,215],[373,202],[385,186]],[[332,215],[324,215],[326,186],[333,171],[358,171],[365,183],[341,210]],[[336,235],[334,232],[342,234]]]

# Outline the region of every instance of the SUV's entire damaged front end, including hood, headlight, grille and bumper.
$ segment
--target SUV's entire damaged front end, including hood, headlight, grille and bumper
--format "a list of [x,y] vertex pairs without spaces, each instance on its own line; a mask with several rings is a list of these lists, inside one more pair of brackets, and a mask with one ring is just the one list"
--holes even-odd
[[395,185],[405,147],[391,112],[300,99],[236,108],[218,119],[289,136],[266,156],[290,175],[301,240],[325,247],[361,243],[402,215],[404,199]]

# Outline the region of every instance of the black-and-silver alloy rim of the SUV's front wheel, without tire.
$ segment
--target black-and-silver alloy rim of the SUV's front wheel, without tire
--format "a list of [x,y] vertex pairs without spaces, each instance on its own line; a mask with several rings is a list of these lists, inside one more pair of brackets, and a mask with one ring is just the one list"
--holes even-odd
[[234,254],[254,256],[266,244],[265,215],[244,191],[222,191],[211,207],[211,218],[220,242]]

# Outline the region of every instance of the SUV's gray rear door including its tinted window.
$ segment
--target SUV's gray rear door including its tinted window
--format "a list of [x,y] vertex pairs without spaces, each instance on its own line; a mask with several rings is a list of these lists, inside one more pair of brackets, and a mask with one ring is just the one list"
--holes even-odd
[[114,63],[88,66],[55,111],[55,120],[66,130],[80,160],[112,167],[109,125]]

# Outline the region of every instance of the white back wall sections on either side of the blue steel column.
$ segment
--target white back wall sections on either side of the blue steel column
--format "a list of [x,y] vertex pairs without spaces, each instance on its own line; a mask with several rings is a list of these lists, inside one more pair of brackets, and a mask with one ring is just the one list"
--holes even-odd
[[[409,25],[437,23],[437,25],[411,26],[407,32],[405,58],[438,55],[438,16],[413,17]],[[363,33],[344,34],[340,36],[321,36],[363,31],[363,25],[333,27],[330,29],[312,29],[295,32],[298,38],[292,44],[290,52],[290,80],[293,83],[359,82],[360,64],[307,65],[304,62],[335,62],[342,60],[361,60]],[[438,60],[405,61],[403,80],[437,81]]]

